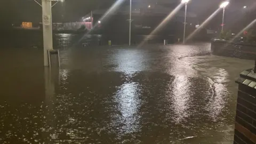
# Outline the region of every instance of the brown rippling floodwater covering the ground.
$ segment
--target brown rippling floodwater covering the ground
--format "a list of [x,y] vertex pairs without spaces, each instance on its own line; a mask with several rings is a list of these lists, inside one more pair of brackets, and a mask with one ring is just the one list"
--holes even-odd
[[[253,61],[210,43],[0,53],[0,143],[232,143],[235,80]],[[39,65],[39,66],[38,66]]]

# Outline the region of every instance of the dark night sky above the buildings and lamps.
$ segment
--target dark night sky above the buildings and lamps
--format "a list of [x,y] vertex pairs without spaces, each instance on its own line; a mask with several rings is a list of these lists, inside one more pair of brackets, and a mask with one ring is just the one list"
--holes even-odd
[[[129,1],[125,4],[129,4]],[[41,0],[39,1],[41,2]],[[115,0],[66,0],[63,3],[58,3],[52,9],[53,21],[76,21],[91,10],[110,7]],[[133,0],[133,4],[143,3],[145,5],[156,3],[173,9],[180,0]],[[212,12],[214,12],[221,0],[191,0],[188,4],[188,11],[198,15],[198,21],[202,22]],[[239,12],[243,10],[244,5],[252,6],[256,3],[255,0],[231,0],[231,4],[227,8],[227,20],[232,21],[237,19]],[[41,22],[42,9],[33,0],[0,0],[0,18],[1,27],[9,26],[11,23],[20,24],[22,21]],[[238,15],[237,15],[238,13]],[[221,13],[213,20],[219,21]],[[249,19],[255,19],[254,14],[250,15]]]

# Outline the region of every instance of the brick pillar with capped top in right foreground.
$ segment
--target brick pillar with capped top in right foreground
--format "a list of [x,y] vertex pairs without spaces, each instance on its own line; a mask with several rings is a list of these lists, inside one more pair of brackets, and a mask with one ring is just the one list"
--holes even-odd
[[245,70],[237,79],[234,143],[256,143],[256,74]]

